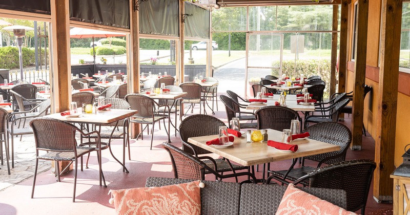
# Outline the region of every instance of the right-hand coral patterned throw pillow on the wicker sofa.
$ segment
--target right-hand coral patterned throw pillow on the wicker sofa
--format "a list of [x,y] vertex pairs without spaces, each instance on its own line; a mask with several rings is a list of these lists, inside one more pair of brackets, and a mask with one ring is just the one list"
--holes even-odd
[[278,214],[356,214],[334,205],[330,202],[315,197],[303,190],[289,184],[280,201]]

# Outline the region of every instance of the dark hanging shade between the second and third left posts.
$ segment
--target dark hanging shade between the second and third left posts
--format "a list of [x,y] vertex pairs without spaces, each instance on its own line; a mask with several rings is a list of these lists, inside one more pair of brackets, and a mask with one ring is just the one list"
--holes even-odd
[[178,0],[149,0],[139,5],[139,33],[179,36]]

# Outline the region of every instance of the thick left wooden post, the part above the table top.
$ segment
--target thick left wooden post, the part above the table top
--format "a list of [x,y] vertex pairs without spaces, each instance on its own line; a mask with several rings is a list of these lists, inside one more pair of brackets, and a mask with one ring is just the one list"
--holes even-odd
[[51,0],[52,25],[52,99],[54,109],[67,111],[71,102],[70,17],[69,0]]

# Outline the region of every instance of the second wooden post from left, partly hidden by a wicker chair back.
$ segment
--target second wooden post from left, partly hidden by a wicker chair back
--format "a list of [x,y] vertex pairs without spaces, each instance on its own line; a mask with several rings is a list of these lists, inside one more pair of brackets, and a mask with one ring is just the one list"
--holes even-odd
[[[130,70],[128,72],[128,83],[130,93],[139,93],[139,13],[134,10],[133,1],[130,1],[130,36],[128,37],[129,46],[127,53],[129,54],[128,63]],[[140,132],[138,123],[131,123],[131,138],[136,138]]]

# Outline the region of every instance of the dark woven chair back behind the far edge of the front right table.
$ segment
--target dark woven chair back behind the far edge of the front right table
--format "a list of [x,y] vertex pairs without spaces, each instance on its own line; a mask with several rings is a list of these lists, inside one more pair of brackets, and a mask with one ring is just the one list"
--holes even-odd
[[[258,129],[271,128],[273,130],[282,131],[291,128],[291,122],[297,119],[301,122],[299,114],[282,106],[266,106],[255,112],[258,120]],[[300,123],[301,124],[301,123]]]

